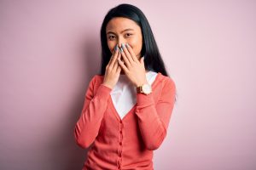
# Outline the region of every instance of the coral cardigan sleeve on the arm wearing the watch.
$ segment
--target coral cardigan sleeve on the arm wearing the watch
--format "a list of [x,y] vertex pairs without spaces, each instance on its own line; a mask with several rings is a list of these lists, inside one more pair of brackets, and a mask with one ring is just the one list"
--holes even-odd
[[154,104],[153,94],[137,94],[138,125],[143,142],[148,150],[156,150],[166,138],[166,131],[175,102],[176,86],[168,78],[160,99]]

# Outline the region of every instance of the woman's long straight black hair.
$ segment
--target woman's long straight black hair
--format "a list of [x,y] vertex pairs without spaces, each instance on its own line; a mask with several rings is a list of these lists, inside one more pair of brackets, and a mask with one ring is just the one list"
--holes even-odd
[[131,4],[122,3],[118,6],[111,8],[108,14],[105,16],[102,22],[101,28],[101,42],[102,42],[102,67],[101,75],[105,74],[106,66],[108,65],[109,59],[112,56],[107,42],[106,27],[109,20],[114,17],[125,17],[133,20],[141,27],[143,33],[143,48],[141,56],[144,56],[145,69],[148,71],[160,72],[164,76],[168,76],[165,64],[161,58],[159,49],[154,40],[153,32],[149,26],[148,20],[143,12]]

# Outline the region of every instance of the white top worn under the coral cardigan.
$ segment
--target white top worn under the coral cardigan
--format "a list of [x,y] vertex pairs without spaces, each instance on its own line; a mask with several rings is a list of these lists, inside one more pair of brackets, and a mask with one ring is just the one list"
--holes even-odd
[[[150,85],[152,85],[156,76],[157,73],[154,71],[148,71],[146,73],[146,78]],[[113,87],[110,95],[113,106],[119,113],[121,119],[131,111],[133,106],[137,103],[137,89],[125,74],[119,76],[119,81]]]

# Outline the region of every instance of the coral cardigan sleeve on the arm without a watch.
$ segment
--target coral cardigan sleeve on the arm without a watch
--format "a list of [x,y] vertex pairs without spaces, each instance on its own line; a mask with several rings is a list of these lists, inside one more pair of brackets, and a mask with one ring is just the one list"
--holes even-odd
[[93,77],[85,94],[83,110],[73,132],[76,143],[84,149],[96,139],[112,90],[101,84],[94,95],[95,86],[96,77]]

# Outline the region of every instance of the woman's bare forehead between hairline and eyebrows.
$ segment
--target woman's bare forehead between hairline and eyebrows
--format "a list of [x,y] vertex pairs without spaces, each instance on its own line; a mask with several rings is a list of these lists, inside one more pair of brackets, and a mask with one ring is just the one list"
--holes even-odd
[[140,30],[140,26],[137,26],[137,23],[133,20],[124,18],[124,17],[115,17],[112,20],[109,20],[108,25],[106,26],[107,31],[123,31],[125,29],[131,28],[135,31]]

